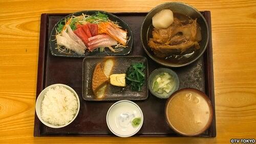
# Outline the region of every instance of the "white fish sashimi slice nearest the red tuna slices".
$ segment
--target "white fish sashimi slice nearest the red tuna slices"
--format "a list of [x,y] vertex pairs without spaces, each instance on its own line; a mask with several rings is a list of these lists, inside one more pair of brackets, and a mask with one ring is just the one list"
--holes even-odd
[[[65,37],[70,45],[70,50],[73,50],[74,52],[76,52],[79,55],[83,55],[84,54],[84,47],[81,46],[80,44],[78,44],[76,41],[74,41],[72,38],[70,38],[70,36],[68,35],[68,33],[66,33],[65,31],[61,32],[61,35],[63,37]],[[69,48],[69,47],[67,47]]]

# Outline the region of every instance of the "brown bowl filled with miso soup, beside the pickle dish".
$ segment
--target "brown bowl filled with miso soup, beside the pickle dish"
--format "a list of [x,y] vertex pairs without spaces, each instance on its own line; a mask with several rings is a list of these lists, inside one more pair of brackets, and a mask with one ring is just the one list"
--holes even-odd
[[168,125],[184,136],[203,133],[211,125],[212,116],[210,99],[197,89],[180,89],[174,92],[165,104],[165,118]]

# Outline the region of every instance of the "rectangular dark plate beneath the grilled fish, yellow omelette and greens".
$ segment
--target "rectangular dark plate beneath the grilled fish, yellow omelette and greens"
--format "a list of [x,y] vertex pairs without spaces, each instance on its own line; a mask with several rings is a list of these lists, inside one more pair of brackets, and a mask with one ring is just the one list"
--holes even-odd
[[[146,76],[145,83],[140,92],[131,90],[129,86],[117,87],[108,84],[105,97],[97,99],[92,91],[92,76],[96,64],[112,59],[114,66],[111,74],[125,74],[126,69],[133,63],[142,62],[146,68],[144,74]],[[142,56],[118,56],[118,57],[86,57],[83,59],[83,85],[82,97],[87,101],[116,101],[116,100],[145,100],[148,97],[147,89],[148,67],[147,59]]]

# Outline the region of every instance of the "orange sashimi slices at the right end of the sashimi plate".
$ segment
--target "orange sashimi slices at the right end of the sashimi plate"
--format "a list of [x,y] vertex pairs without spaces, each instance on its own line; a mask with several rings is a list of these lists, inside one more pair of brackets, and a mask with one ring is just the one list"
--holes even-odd
[[117,27],[112,22],[101,22],[99,23],[99,32],[108,34],[119,43],[126,45],[127,32]]

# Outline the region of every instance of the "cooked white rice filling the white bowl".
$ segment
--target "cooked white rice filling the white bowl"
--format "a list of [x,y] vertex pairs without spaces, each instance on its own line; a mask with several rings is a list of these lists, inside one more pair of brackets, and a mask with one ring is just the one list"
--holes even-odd
[[52,125],[69,123],[77,112],[78,102],[73,92],[63,86],[50,88],[41,104],[42,119]]

